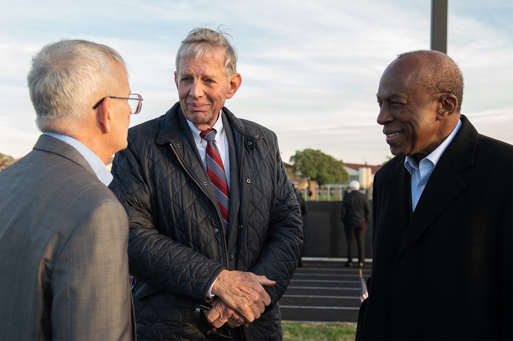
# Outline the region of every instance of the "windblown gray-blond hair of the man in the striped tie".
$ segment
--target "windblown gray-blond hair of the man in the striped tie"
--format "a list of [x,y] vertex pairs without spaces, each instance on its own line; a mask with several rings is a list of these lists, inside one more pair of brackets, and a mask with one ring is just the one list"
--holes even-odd
[[176,53],[176,72],[180,73],[180,60],[184,58],[198,59],[205,54],[211,54],[221,60],[224,59],[223,72],[225,76],[233,76],[237,72],[237,52],[226,36],[231,37],[220,28],[217,31],[208,28],[194,28],[182,40],[182,45]]

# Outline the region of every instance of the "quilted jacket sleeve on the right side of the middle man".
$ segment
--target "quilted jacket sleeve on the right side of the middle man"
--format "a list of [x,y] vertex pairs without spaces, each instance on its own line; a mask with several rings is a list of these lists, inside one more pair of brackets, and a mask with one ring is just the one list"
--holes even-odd
[[262,246],[257,262],[250,272],[265,275],[276,281],[266,287],[271,297],[271,309],[282,297],[298,265],[303,247],[303,221],[301,209],[292,184],[288,180],[285,166],[278,152],[275,154],[276,168],[274,179],[275,196],[270,210],[267,238]]

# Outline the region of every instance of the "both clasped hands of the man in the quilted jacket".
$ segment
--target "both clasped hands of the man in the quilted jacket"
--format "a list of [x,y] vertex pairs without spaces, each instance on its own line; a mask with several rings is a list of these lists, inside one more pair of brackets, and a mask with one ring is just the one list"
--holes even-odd
[[223,270],[212,287],[216,297],[212,308],[207,311],[208,321],[215,328],[225,323],[232,328],[253,322],[271,304],[269,294],[264,286],[271,287],[276,282],[266,276],[251,272]]

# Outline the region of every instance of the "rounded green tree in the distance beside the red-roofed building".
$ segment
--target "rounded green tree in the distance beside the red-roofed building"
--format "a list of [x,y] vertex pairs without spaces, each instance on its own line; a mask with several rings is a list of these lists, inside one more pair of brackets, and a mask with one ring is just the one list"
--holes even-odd
[[303,151],[295,151],[295,154],[290,157],[290,162],[295,174],[315,180],[320,185],[347,183],[349,180],[344,162],[319,150],[307,148]]

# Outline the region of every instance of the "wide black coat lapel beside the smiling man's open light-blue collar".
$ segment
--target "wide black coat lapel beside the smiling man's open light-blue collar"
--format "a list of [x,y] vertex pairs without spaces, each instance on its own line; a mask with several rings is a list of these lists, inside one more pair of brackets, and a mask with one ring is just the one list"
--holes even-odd
[[462,115],[461,120],[460,130],[433,169],[424,193],[411,216],[398,255],[419,239],[466,186],[460,172],[473,162],[478,133],[465,116]]

